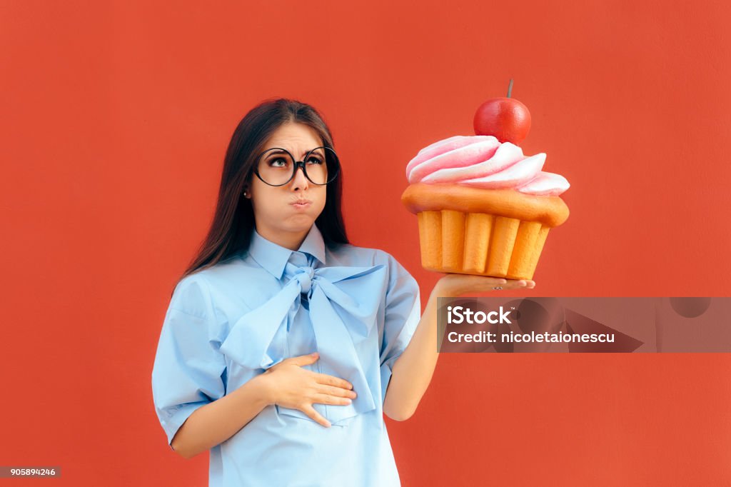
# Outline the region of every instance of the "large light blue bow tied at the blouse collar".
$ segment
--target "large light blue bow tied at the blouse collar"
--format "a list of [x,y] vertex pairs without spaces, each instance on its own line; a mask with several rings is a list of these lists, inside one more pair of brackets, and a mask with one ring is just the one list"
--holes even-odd
[[[294,317],[298,311],[300,293],[306,293],[320,370],[349,381],[357,393],[351,404],[315,403],[314,409],[330,423],[375,409],[381,393],[375,395],[371,390],[364,367],[378,365],[379,350],[358,347],[360,354],[365,355],[361,358],[356,347],[370,335],[376,323],[376,313],[387,289],[385,266],[315,269],[311,265],[298,267],[287,263],[284,278],[289,279],[287,284],[273,298],[233,325],[221,344],[221,352],[249,369],[269,369],[284,360],[286,357],[269,355],[274,353],[272,350],[282,350],[270,345],[277,331],[287,326],[288,317]],[[363,288],[368,292],[362,292]],[[280,414],[311,420],[299,409],[278,408]]]

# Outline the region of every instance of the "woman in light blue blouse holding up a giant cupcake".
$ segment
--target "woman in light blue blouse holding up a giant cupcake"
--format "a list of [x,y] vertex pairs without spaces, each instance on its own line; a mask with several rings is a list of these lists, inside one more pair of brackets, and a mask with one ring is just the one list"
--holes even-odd
[[444,276],[420,317],[396,260],[348,243],[342,169],[314,108],[254,107],[213,224],[165,316],[152,385],[168,442],[211,451],[211,486],[398,486],[383,414],[408,419],[436,366],[436,296],[533,287]]

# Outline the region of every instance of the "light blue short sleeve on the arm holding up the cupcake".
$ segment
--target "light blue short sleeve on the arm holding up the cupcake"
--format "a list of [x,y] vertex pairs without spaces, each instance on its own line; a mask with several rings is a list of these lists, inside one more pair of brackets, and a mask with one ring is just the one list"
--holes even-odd
[[386,400],[393,365],[406,350],[421,320],[419,284],[391,255],[388,260],[389,283],[380,356],[382,404]]

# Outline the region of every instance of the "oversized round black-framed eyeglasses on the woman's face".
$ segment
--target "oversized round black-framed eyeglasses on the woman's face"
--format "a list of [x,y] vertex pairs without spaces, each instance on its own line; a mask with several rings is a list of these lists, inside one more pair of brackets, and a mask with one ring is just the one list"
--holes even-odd
[[274,147],[257,158],[254,174],[269,186],[284,186],[295,178],[299,167],[308,181],[322,186],[338,177],[340,161],[329,147],[314,148],[299,162],[286,149]]

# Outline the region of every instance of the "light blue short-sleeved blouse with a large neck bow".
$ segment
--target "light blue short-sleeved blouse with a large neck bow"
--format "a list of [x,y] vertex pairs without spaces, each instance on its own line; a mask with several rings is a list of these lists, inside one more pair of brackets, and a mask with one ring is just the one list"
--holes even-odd
[[168,444],[195,409],[284,358],[348,380],[348,405],[265,407],[211,449],[209,486],[399,486],[383,419],[395,360],[420,320],[419,287],[390,254],[331,250],[313,225],[297,252],[254,230],[242,251],[178,283],[152,371]]

